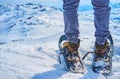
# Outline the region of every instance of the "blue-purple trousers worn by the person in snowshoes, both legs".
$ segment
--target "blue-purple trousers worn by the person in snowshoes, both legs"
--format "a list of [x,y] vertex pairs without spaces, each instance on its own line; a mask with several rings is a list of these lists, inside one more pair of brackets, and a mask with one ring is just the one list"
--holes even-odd
[[[78,42],[79,23],[78,23],[78,6],[80,0],[63,0],[64,15],[64,32],[72,43]],[[96,42],[104,44],[109,31],[110,7],[109,0],[91,0],[94,10],[94,26]]]

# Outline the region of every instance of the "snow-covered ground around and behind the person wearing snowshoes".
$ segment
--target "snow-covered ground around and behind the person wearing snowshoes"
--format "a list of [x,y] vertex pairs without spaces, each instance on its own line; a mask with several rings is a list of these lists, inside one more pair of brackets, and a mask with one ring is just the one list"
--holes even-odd
[[[120,79],[120,3],[116,5],[110,17],[115,42],[110,79]],[[80,11],[79,24],[83,56],[93,50],[93,11]],[[85,74],[68,72],[58,63],[58,39],[63,29],[62,11],[57,8],[0,5],[0,79],[106,79],[92,71],[92,55],[84,61],[88,70]]]

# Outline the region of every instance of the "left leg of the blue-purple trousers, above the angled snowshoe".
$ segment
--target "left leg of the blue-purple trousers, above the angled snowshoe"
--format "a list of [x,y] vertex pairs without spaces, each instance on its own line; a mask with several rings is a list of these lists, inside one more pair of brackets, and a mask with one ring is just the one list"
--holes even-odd
[[72,43],[78,42],[79,24],[77,9],[80,0],[63,0],[64,32]]

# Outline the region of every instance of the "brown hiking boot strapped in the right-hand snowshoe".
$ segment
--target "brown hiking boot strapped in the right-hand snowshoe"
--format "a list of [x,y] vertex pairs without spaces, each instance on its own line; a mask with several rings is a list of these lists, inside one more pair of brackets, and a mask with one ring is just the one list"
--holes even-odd
[[95,53],[97,57],[103,58],[106,51],[107,51],[107,47],[109,46],[108,41],[105,42],[104,45],[99,45],[97,43],[95,43]]

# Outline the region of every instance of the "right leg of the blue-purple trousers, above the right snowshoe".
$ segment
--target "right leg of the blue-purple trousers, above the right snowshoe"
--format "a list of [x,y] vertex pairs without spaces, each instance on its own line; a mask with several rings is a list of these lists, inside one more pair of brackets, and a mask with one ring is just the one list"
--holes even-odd
[[104,44],[109,35],[109,0],[92,0],[94,9],[95,37],[98,44]]

